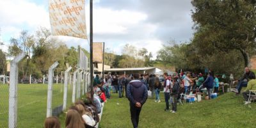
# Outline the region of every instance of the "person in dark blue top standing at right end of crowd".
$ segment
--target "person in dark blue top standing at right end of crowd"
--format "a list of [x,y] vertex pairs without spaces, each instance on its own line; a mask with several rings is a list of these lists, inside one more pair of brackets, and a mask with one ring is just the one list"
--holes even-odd
[[208,97],[211,100],[211,93],[212,93],[212,88],[213,88],[213,83],[214,83],[214,79],[212,77],[212,72],[209,72],[207,78],[205,79],[204,83],[202,83],[202,85],[198,88],[198,91],[200,91],[202,88],[207,88],[207,92],[208,92]]

